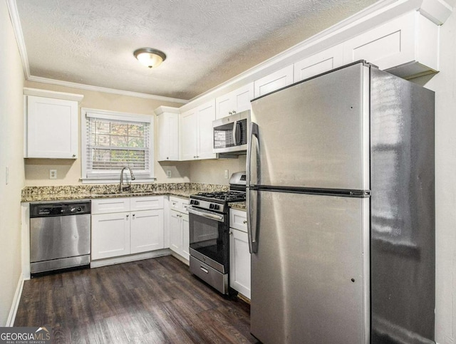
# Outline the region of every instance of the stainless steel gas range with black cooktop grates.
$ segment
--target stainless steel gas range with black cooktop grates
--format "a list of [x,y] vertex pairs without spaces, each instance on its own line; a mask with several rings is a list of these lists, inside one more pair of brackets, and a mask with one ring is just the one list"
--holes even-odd
[[190,196],[190,271],[220,293],[229,289],[229,203],[245,201],[245,172],[229,180],[230,191]]

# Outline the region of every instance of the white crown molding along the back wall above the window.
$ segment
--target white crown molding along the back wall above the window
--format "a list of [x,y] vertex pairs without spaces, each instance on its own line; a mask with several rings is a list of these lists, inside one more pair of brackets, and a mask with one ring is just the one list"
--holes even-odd
[[36,83],[48,83],[51,85],[59,85],[59,86],[65,86],[65,87],[71,87],[71,88],[80,88],[82,90],[93,90],[96,92],[114,93],[114,94],[118,94],[118,95],[128,95],[130,97],[136,97],[136,98],[161,100],[161,101],[170,102],[170,103],[187,104],[189,102],[189,100],[164,97],[162,95],[151,95],[151,94],[147,94],[147,93],[131,92],[129,90],[115,90],[114,88],[105,88],[105,87],[100,87],[100,86],[85,85],[83,83],[71,83],[70,81],[41,78],[39,76],[33,76],[33,75],[29,76],[27,78],[27,80],[33,81]]

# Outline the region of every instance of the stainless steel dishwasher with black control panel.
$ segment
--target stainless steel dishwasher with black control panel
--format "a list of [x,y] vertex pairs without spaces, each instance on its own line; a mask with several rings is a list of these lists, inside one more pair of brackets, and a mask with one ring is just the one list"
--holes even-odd
[[90,201],[30,204],[30,272],[90,264]]

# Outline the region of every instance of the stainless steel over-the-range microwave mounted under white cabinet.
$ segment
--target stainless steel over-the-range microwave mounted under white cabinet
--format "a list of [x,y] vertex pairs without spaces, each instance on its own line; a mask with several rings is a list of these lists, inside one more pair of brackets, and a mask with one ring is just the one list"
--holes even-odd
[[214,153],[247,151],[249,114],[247,110],[212,122]]

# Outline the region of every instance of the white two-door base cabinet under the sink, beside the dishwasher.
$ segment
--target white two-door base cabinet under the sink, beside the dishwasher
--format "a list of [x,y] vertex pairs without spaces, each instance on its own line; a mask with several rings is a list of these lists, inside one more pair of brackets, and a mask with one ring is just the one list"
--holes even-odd
[[[143,204],[150,204],[152,209],[130,211],[138,209],[138,202],[144,208],[147,207]],[[108,207],[106,204],[116,204],[116,207]],[[92,260],[163,249],[163,209],[155,209],[160,204],[163,204],[162,197],[94,199]]]

